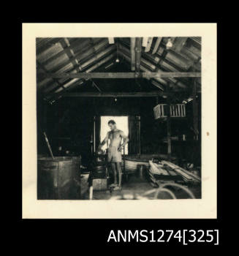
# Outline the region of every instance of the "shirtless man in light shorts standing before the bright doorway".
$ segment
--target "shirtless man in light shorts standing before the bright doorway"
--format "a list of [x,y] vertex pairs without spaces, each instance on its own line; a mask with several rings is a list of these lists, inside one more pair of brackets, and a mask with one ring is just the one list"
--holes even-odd
[[[111,163],[111,167],[114,173],[114,183],[111,185],[113,190],[121,189],[122,182],[122,170],[121,170],[121,149],[124,148],[126,143],[129,142],[129,138],[120,129],[117,129],[114,120],[108,121],[110,127],[110,132],[107,132],[105,139],[99,144],[99,148],[102,148],[108,140],[110,140],[110,146],[108,148],[108,158],[107,161]],[[121,144],[121,140],[124,140]],[[118,173],[118,183],[117,183],[117,173]]]

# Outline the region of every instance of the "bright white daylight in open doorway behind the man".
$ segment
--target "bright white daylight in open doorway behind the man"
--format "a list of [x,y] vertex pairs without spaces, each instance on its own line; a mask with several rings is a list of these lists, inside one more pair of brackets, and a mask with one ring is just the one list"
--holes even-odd
[[[124,132],[125,135],[129,135],[129,117],[128,116],[101,116],[100,119],[100,141],[104,140],[107,132],[110,131],[108,121],[113,119],[118,129]],[[110,142],[109,142],[110,143]],[[105,150],[107,145],[105,144],[102,149]],[[128,144],[125,146],[125,154],[128,154]]]

